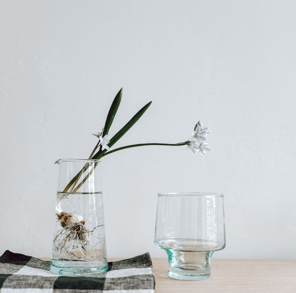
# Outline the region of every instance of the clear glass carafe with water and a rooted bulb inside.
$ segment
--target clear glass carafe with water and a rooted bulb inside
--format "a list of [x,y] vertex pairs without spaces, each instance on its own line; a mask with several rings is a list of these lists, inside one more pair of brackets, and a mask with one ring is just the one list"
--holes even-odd
[[99,160],[61,159],[50,271],[66,276],[108,270]]

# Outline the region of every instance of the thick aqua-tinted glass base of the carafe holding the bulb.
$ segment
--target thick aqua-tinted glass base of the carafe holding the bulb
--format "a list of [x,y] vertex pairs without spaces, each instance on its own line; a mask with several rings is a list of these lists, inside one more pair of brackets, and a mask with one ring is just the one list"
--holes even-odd
[[64,276],[85,276],[108,271],[108,263],[105,261],[70,261],[53,259],[50,262],[50,269],[54,274]]

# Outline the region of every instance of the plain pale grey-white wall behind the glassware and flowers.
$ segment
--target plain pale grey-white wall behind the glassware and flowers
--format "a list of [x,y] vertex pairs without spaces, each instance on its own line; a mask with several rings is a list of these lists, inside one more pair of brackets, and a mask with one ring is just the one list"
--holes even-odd
[[59,158],[86,158],[110,104],[115,145],[185,141],[198,120],[212,152],[143,147],[102,160],[109,257],[153,244],[157,192],[225,194],[214,257],[296,259],[295,1],[1,1],[0,253],[50,257]]

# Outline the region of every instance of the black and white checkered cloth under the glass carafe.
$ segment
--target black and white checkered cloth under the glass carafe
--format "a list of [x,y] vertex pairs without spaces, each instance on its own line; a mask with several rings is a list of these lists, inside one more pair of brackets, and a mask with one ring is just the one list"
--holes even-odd
[[108,263],[106,273],[60,276],[49,261],[6,250],[0,257],[1,293],[154,293],[149,253]]

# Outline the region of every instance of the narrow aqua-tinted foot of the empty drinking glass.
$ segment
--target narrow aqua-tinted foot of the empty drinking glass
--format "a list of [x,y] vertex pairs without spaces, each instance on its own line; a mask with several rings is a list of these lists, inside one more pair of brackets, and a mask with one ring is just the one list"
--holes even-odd
[[170,278],[178,280],[205,280],[210,278],[213,251],[165,250],[168,254],[168,276]]

